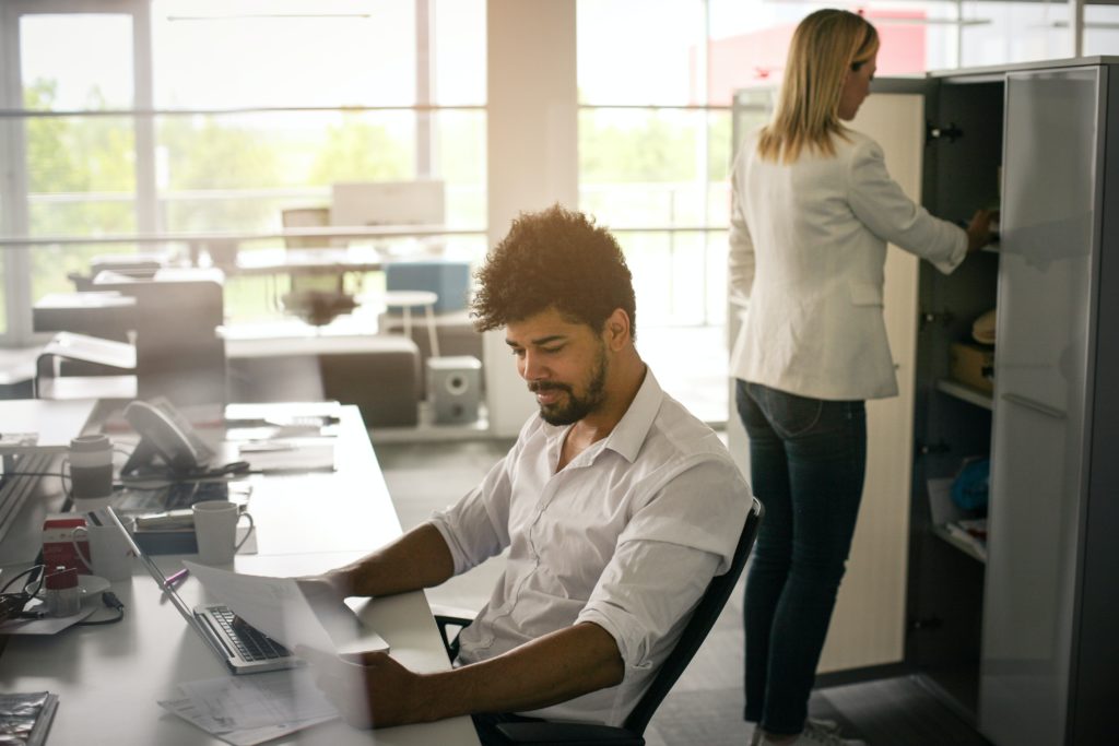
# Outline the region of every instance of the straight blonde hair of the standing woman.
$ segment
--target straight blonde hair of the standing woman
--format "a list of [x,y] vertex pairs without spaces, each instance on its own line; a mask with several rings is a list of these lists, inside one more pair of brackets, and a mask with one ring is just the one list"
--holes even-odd
[[831,135],[846,138],[839,97],[850,70],[878,51],[878,32],[862,16],[817,10],[800,21],[789,46],[784,82],[773,120],[762,129],[758,153],[794,162],[806,149],[835,154]]

